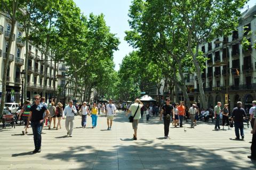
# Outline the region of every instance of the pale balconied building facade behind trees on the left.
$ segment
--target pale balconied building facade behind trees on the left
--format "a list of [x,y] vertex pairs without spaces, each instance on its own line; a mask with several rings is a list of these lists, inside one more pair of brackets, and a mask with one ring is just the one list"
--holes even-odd
[[[7,46],[10,41],[11,20],[0,15],[0,95],[2,95],[2,80],[4,60],[6,56]],[[11,47],[10,61],[7,69],[7,84],[5,102],[20,102],[21,101],[21,85],[22,85],[22,70],[25,70],[25,42],[21,39],[25,36],[24,28],[21,23],[17,22],[14,28],[14,38]],[[54,95],[54,83],[57,81],[54,78],[58,74],[58,63],[55,64],[53,54],[49,53],[46,60],[46,65],[42,60],[45,56],[42,51],[36,46],[29,43],[29,59],[28,59],[28,79],[27,82],[27,100],[32,101],[34,94],[43,93],[43,82],[46,81],[46,99],[49,101]],[[47,69],[46,79],[44,80],[44,69]],[[57,85],[57,83],[55,83]],[[57,87],[57,86],[55,86]]]

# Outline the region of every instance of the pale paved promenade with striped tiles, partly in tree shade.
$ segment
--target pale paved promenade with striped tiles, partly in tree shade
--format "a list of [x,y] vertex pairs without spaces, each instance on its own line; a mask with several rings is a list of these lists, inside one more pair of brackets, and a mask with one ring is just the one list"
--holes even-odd
[[[111,131],[106,117],[98,117],[96,128],[87,119],[81,128],[81,117],[75,117],[73,137],[62,128],[43,129],[42,152],[34,150],[32,129],[21,135],[22,127],[0,129],[0,169],[256,169],[250,155],[251,128],[245,129],[245,140],[231,140],[234,129],[213,131],[212,123],[199,122],[193,129],[170,128],[170,139],[164,139],[164,125],[158,118],[141,119],[138,140],[132,140],[132,125],[124,112],[118,112]],[[1,124],[2,127],[2,124]],[[227,128],[227,127],[226,127]]]

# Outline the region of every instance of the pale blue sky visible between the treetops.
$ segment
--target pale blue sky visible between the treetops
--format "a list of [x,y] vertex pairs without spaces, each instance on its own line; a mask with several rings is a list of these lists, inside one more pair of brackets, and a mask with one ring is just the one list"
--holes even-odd
[[[129,54],[133,50],[129,44],[124,41],[125,30],[129,30],[129,24],[127,16],[129,6],[132,0],[74,0],[77,6],[85,15],[103,13],[107,25],[110,27],[111,33],[117,34],[121,44],[119,45],[119,51],[114,53],[114,62],[116,64],[115,69],[119,70],[119,63],[126,54]],[[252,7],[255,4],[255,0],[250,0],[247,5]]]

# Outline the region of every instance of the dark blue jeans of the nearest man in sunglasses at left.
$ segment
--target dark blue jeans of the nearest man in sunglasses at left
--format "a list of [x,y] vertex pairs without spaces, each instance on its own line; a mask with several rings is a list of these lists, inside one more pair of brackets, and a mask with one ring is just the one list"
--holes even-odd
[[39,122],[31,122],[31,127],[33,130],[33,135],[34,135],[34,144],[35,144],[35,149],[41,149],[41,142],[42,142],[42,129],[43,129],[43,123]]

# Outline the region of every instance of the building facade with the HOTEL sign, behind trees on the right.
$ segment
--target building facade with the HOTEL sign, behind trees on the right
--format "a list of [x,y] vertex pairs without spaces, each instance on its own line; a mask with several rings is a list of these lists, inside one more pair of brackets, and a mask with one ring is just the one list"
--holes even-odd
[[[228,92],[230,108],[242,101],[245,109],[256,99],[256,51],[251,46],[256,41],[256,5],[242,13],[237,30],[228,37],[218,37],[200,45],[199,49],[208,59],[203,70],[203,87],[207,107],[220,101],[225,103]],[[248,34],[252,32],[252,35]],[[242,39],[251,45],[242,47]],[[197,76],[196,76],[197,79]],[[198,82],[195,81],[195,101],[200,103]]]

